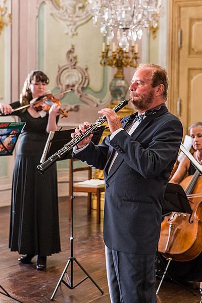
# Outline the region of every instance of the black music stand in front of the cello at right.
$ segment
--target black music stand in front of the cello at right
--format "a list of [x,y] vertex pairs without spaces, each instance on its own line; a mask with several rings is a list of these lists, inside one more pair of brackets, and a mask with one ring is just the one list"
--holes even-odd
[[[164,194],[164,200],[162,203],[162,214],[163,218],[165,216],[169,216],[172,212],[179,212],[179,213],[186,213],[186,214],[192,214],[192,209],[189,205],[189,200],[187,199],[186,193],[184,189],[182,188],[181,185],[174,184],[174,183],[168,183],[165,194]],[[189,222],[190,222],[190,217],[189,217]],[[157,269],[156,268],[156,273],[157,275],[162,275],[161,281],[159,283],[159,286],[157,288],[156,294],[159,293],[159,290],[161,288],[161,285],[163,283],[163,280],[165,276],[167,275],[172,281],[174,281],[176,284],[180,285],[181,287],[185,288],[186,290],[190,291],[194,295],[196,295],[195,292],[190,290],[189,288],[185,287],[183,284],[180,282],[174,280],[170,275],[169,275],[169,265],[172,261],[172,258],[168,258],[168,264],[166,268],[163,269]],[[156,258],[156,264],[161,263],[161,261],[158,258],[158,251],[157,251],[157,258]]]

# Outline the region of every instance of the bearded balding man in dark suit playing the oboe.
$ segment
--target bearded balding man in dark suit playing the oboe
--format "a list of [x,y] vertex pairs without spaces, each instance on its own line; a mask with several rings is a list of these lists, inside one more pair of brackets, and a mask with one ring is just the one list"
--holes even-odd
[[[74,147],[76,157],[104,169],[104,242],[111,302],[155,303],[155,253],[164,191],[182,139],[180,120],[169,113],[166,71],[140,65],[130,85],[137,111],[121,122],[111,109],[100,110],[111,135],[99,145],[92,134]],[[85,133],[84,122],[72,133]]]

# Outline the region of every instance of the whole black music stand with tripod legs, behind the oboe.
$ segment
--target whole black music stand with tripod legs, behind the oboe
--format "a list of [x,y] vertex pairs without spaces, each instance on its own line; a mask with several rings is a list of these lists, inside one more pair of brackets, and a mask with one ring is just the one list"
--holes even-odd
[[[105,126],[101,126],[98,131],[94,132],[93,137],[92,137],[92,141],[95,144],[98,144],[104,129],[105,129]],[[74,129],[51,132],[49,134],[49,137],[48,137],[47,141],[46,141],[44,151],[43,151],[43,155],[41,157],[40,162],[43,163],[44,161],[46,161],[48,159],[48,157],[51,157],[52,155],[54,155],[59,149],[61,149],[65,144],[67,144],[70,140],[72,140],[72,138],[71,138],[71,133],[72,132],[74,132]],[[65,160],[65,159],[71,159],[71,161],[73,161],[72,154],[71,153],[65,154],[63,157],[61,157],[60,160]],[[72,167],[72,165],[71,165],[71,167]],[[73,173],[71,173],[71,176],[73,177]],[[104,291],[97,285],[97,283],[91,278],[91,276],[87,273],[87,271],[81,266],[81,264],[74,257],[74,254],[73,254],[73,240],[74,240],[74,237],[73,237],[73,199],[74,199],[73,180],[71,180],[71,192],[69,192],[69,195],[70,195],[70,200],[71,200],[70,257],[68,258],[68,262],[65,265],[65,268],[62,272],[62,275],[61,275],[60,279],[58,280],[56,288],[55,288],[55,290],[54,290],[54,292],[51,296],[52,301],[54,300],[54,297],[56,295],[56,292],[57,292],[61,282],[63,282],[68,288],[74,289],[79,284],[81,284],[82,282],[84,282],[86,279],[89,278],[92,281],[92,283],[99,289],[99,291],[102,294],[104,293]],[[86,274],[86,277],[83,280],[81,280],[80,282],[78,282],[76,285],[73,285],[73,262],[74,261],[81,268],[81,270]],[[67,269],[68,269],[69,265],[71,266],[71,268],[70,268],[70,277],[67,274]],[[66,278],[66,281],[63,280],[64,276]]]

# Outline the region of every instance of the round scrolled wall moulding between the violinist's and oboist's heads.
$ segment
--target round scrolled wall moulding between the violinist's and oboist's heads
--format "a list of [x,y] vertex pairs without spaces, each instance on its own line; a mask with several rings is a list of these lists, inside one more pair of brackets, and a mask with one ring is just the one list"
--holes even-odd
[[61,98],[64,97],[64,95],[62,94],[63,91],[72,89],[75,94],[85,103],[67,105],[66,109],[68,111],[78,111],[79,106],[97,107],[97,103],[100,100],[82,91],[82,89],[86,88],[89,83],[89,75],[87,72],[87,67],[82,68],[76,65],[77,60],[76,56],[74,56],[73,45],[67,51],[66,58],[67,64],[63,66],[58,66],[58,74],[56,78],[57,85],[60,88],[59,93],[61,94]]

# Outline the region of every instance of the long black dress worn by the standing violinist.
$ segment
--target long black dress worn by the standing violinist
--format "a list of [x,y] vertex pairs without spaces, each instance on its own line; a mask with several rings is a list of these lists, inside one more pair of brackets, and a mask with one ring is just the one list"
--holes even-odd
[[[11,105],[19,106],[19,102]],[[15,112],[26,122],[20,135],[12,186],[9,247],[20,254],[49,256],[61,250],[56,164],[41,175],[40,162],[47,139],[48,115],[33,118]]]

